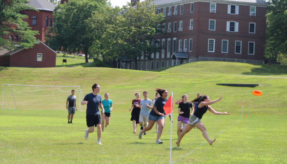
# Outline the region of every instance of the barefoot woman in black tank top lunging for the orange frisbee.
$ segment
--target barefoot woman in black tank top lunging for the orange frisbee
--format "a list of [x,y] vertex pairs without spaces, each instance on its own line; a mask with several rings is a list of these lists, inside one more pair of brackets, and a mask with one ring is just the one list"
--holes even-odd
[[194,126],[202,131],[202,134],[203,134],[205,140],[210,145],[216,140],[216,139],[214,139],[211,141],[209,139],[209,137],[206,133],[206,128],[200,120],[202,119],[202,116],[205,114],[205,112],[207,110],[209,110],[211,113],[216,114],[216,115],[223,115],[223,114],[230,115],[230,113],[227,113],[227,112],[225,112],[225,113],[217,112],[214,109],[212,109],[212,107],[210,106],[211,104],[218,102],[221,99],[222,99],[222,97],[220,97],[219,99],[210,101],[209,97],[207,95],[204,95],[204,96],[200,96],[200,97],[194,99],[193,101],[191,101],[191,102],[198,102],[198,106],[197,106],[194,114],[189,118],[189,122],[186,125],[186,127],[184,128],[184,130],[180,133],[179,139],[176,142],[177,147],[180,146],[181,140],[183,139],[184,135],[186,133],[188,133]]

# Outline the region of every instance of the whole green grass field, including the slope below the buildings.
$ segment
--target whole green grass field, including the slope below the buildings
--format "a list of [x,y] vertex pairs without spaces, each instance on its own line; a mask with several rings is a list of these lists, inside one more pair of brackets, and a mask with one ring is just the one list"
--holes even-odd
[[[173,92],[175,101],[183,94],[187,94],[189,100],[197,93],[208,95],[211,100],[223,96],[222,101],[211,106],[216,111],[231,113],[229,116],[210,112],[204,115],[202,122],[209,137],[217,138],[212,146],[205,142],[198,129],[192,129],[182,140],[181,147],[177,148],[178,114],[174,111],[172,163],[287,163],[286,77],[286,66],[236,62],[193,62],[155,71],[96,67],[0,67],[0,83],[80,85],[87,94],[92,91],[92,84],[98,82],[102,88],[100,95],[108,92],[114,105],[110,125],[102,134],[103,145],[100,146],[96,144],[96,133],[84,140],[85,112],[77,112],[73,124],[67,124],[65,99],[69,93],[62,93],[63,98],[55,96],[57,101],[53,105],[63,106],[59,110],[48,110],[41,107],[41,103],[39,107],[33,107],[37,110],[28,110],[35,104],[31,103],[31,99],[37,100],[43,93],[28,96],[30,93],[27,92],[21,99],[16,98],[16,101],[21,100],[17,103],[25,111],[22,108],[6,109],[8,93],[4,93],[5,109],[0,110],[0,163],[167,164],[170,121],[165,121],[161,137],[164,143],[160,145],[155,144],[155,129],[139,140],[140,127],[134,135],[132,122],[129,121],[128,109],[134,93],[146,90],[151,99],[154,98],[155,87]],[[228,87],[216,83],[256,83],[259,86]],[[261,90],[263,95],[253,96],[253,90]],[[23,91],[27,90],[19,89],[15,96]],[[50,93],[46,93],[49,96]],[[244,118],[241,120],[243,100]],[[81,107],[83,110],[85,106]]]

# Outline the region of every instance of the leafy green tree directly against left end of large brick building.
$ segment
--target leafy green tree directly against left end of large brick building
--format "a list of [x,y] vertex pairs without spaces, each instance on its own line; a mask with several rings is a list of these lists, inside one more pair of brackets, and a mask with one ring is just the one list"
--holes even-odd
[[[156,5],[151,0],[137,2],[123,6],[113,24],[109,25],[102,37],[104,51],[108,55],[116,55],[135,61],[144,55],[152,59],[152,54],[159,52],[163,47],[156,46],[159,41],[154,40],[156,33],[164,33],[160,27],[164,27],[166,21],[163,14],[155,14]],[[160,26],[158,26],[160,24]],[[143,53],[142,53],[143,52]]]

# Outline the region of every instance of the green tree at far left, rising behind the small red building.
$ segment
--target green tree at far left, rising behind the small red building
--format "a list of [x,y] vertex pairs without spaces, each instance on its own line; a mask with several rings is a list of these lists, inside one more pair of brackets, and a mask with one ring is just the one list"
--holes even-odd
[[[15,46],[18,44],[27,49],[33,47],[38,41],[34,37],[39,34],[38,31],[30,30],[29,24],[22,20],[28,16],[20,14],[22,10],[38,10],[24,3],[30,2],[28,0],[2,0],[0,4],[0,48],[12,50],[18,48]],[[9,38],[11,35],[21,40],[13,41]]]

